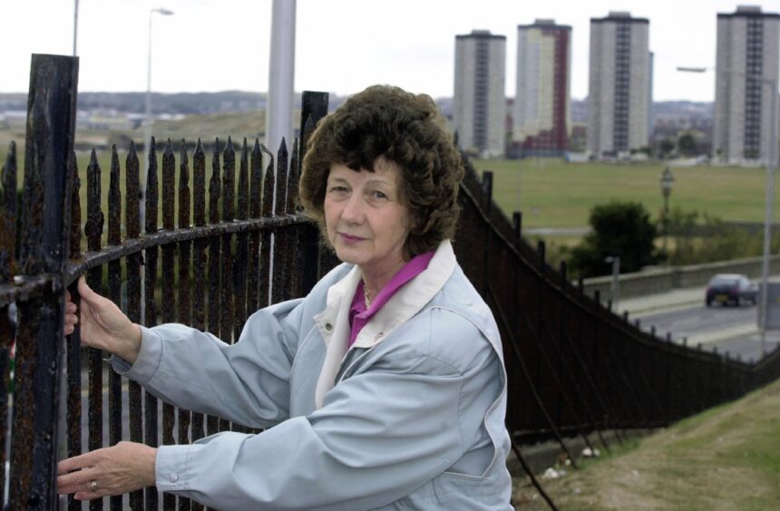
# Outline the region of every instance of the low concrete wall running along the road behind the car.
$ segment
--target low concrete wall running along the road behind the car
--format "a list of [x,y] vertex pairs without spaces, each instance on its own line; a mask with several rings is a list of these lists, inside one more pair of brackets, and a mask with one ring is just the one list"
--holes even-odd
[[[762,257],[750,257],[705,265],[652,268],[634,274],[623,274],[619,276],[620,298],[704,286],[715,274],[744,274],[751,279],[760,278],[762,262]],[[773,255],[770,258],[769,269],[771,275],[780,274],[780,255]],[[611,282],[611,275],[586,279],[583,283],[585,294],[592,296],[598,290],[601,296],[609,296]]]

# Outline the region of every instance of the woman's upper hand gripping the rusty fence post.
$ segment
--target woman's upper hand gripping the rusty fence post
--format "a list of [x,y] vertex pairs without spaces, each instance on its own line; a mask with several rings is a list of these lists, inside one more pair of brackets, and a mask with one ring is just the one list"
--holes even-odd
[[132,323],[111,300],[95,293],[83,276],[79,277],[78,289],[81,296],[81,314],[68,294],[64,333],[73,333],[75,324],[80,323],[83,344],[134,363],[141,351],[141,327]]

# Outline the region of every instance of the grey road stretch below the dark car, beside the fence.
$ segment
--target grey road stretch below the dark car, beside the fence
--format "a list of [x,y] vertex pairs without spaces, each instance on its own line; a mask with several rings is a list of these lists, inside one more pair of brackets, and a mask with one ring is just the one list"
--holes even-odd
[[[756,328],[756,306],[705,307],[690,306],[675,311],[645,315],[641,328],[656,327],[656,333],[671,333],[676,342],[686,340],[689,346],[702,345],[702,349],[728,352],[743,361],[755,362],[761,357],[761,334]],[[766,333],[765,348],[772,351],[780,343],[780,332]]]

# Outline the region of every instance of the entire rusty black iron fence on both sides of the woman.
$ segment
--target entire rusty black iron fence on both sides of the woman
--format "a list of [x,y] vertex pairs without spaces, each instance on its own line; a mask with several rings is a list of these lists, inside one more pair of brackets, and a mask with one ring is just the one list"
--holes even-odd
[[[78,276],[122,304],[134,322],[189,323],[233,342],[249,313],[306,294],[336,263],[320,250],[316,227],[296,209],[305,143],[289,151],[283,143],[273,155],[257,140],[251,148],[243,140],[238,149],[229,138],[216,140],[210,171],[200,140],[194,150],[169,140],[161,158],[151,144],[141,203],[134,146],[122,154],[112,148],[106,193],[93,152],[82,208],[73,156],[76,66],[71,58],[34,55],[21,205],[13,144],[2,171],[0,371],[6,385],[13,342],[16,358],[10,425],[9,394],[0,392],[0,461],[10,430],[13,509],[56,506],[55,467],[62,456],[122,439],[157,446],[248,430],[158,402],[104,371],[104,354],[81,348],[78,330],[63,338],[64,290],[70,286],[76,296]],[[327,94],[304,94],[304,141],[326,112]],[[569,452],[570,438],[590,445],[592,433],[607,447],[604,431],[620,439],[626,429],[663,426],[780,375],[778,351],[746,364],[642,333],[628,317],[572,286],[564,266],[556,271],[546,265],[543,244],[534,250],[522,241],[520,215],[510,222],[492,203],[490,173],[480,182],[469,169],[461,191],[455,251],[499,323],[509,374],[507,427],[521,448],[554,439]],[[15,336],[11,304],[18,310]],[[0,479],[5,491],[5,477]],[[154,488],[90,508],[103,505],[198,507],[172,496],[158,502]],[[69,502],[70,508],[81,506]]]

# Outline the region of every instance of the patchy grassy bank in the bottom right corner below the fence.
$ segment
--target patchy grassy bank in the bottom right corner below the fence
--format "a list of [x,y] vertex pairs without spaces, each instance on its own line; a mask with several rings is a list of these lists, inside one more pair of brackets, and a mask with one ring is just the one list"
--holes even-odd
[[[561,510],[780,509],[780,381],[542,485]],[[549,509],[521,478],[517,509]]]

